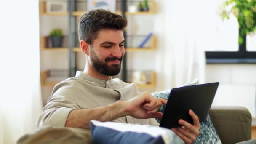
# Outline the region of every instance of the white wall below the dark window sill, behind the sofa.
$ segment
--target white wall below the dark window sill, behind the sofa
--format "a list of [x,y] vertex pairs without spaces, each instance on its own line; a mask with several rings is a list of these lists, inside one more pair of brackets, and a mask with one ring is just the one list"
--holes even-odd
[[213,105],[244,106],[255,117],[255,64],[208,64],[206,69],[206,82],[220,83]]

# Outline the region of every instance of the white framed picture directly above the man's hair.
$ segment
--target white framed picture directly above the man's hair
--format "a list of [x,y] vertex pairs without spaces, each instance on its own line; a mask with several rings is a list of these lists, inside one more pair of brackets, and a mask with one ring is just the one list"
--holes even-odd
[[116,0],[87,0],[88,11],[99,8],[115,12]]

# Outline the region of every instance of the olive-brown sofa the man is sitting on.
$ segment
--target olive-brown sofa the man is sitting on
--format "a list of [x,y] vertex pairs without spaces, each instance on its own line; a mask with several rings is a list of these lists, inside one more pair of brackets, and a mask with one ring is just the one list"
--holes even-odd
[[[251,139],[251,114],[245,107],[211,107],[211,121],[223,144]],[[91,131],[81,128],[43,127],[22,136],[17,144],[90,144]]]

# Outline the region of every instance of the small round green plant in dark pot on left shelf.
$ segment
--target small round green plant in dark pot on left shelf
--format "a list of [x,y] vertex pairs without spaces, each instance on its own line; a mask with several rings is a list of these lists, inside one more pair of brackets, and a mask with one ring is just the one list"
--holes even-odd
[[50,37],[53,48],[62,47],[63,33],[61,29],[52,29],[50,32]]

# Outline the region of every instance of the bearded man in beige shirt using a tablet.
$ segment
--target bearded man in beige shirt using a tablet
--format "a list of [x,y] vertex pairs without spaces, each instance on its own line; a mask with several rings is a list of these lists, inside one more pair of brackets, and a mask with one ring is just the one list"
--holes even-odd
[[[122,30],[126,25],[122,16],[102,9],[81,17],[78,32],[85,69],[54,87],[38,126],[89,129],[90,120],[159,125],[155,118],[163,114],[157,110],[167,101],[140,93],[136,85],[111,77],[120,72],[125,54]],[[191,110],[189,115],[194,125],[179,120],[183,128],[173,129],[186,143],[195,141],[200,129],[197,115]]]

